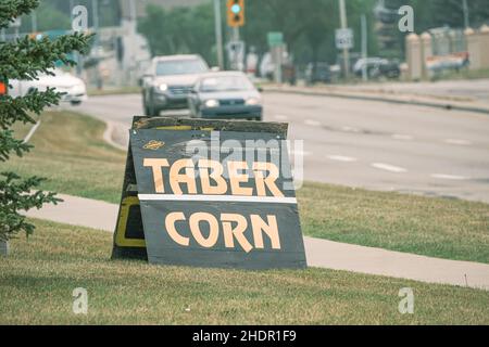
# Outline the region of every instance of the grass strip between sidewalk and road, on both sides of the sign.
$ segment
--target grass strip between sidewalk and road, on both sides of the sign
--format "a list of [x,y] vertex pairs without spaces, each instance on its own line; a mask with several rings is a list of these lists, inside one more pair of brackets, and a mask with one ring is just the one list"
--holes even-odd
[[[102,140],[104,125],[49,112],[36,149],[4,169],[49,178],[45,189],[118,203],[125,154]],[[489,205],[306,183],[298,192],[303,232],[338,242],[489,264]]]

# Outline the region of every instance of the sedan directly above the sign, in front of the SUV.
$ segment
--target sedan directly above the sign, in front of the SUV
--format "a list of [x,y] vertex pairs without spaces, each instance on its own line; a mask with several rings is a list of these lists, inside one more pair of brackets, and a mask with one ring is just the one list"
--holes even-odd
[[262,97],[239,72],[203,74],[188,97],[190,115],[208,119],[262,120]]

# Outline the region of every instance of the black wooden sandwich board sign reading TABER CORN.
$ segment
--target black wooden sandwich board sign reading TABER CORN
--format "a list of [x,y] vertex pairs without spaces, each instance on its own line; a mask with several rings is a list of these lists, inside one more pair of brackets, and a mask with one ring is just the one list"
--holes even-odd
[[287,125],[135,117],[113,258],[305,268]]

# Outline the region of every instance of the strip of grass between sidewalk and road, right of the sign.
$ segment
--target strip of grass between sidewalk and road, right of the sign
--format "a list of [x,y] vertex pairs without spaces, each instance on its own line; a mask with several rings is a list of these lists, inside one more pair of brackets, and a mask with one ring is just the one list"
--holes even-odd
[[489,262],[489,205],[308,183],[303,232],[331,241]]

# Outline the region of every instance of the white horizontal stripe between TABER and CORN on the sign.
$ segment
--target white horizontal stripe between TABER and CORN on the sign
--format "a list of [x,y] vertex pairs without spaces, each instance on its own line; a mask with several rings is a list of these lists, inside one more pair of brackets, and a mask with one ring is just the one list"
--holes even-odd
[[297,204],[296,197],[275,197],[275,196],[139,194],[138,197],[140,201],[146,202],[163,201],[163,202]]

